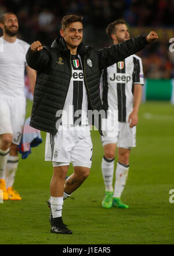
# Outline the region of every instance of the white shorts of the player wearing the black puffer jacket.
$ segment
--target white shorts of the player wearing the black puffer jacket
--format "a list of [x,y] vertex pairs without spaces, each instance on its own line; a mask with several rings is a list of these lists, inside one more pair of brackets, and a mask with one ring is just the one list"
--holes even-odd
[[45,161],[52,161],[53,166],[73,163],[73,166],[90,168],[92,165],[90,126],[60,125],[55,136],[46,133]]

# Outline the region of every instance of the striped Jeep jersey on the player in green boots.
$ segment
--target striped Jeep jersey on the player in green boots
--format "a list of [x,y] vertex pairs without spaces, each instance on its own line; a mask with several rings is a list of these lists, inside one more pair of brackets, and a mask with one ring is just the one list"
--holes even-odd
[[142,59],[131,55],[103,70],[102,102],[106,109],[118,110],[118,121],[128,122],[133,110],[133,88],[144,84]]

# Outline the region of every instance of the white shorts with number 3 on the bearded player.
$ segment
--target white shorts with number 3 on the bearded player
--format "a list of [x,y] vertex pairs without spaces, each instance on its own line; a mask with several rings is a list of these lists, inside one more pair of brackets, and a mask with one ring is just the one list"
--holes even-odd
[[19,145],[26,118],[26,99],[0,98],[0,134],[13,134],[12,143]]

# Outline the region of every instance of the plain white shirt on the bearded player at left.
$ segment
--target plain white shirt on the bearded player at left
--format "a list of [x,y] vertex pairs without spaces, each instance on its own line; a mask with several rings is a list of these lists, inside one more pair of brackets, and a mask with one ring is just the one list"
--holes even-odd
[[0,37],[0,97],[21,99],[24,97],[24,70],[27,42],[16,38],[13,43]]

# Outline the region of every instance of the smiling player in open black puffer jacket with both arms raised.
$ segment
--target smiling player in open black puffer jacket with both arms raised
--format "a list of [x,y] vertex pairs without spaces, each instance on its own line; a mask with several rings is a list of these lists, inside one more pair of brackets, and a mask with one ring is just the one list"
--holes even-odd
[[[52,233],[72,233],[62,220],[63,200],[89,175],[92,141],[87,112],[102,108],[102,70],[140,51],[158,35],[151,31],[147,37],[140,35],[100,51],[85,47],[82,37],[82,17],[67,15],[61,22],[60,37],[51,47],[35,41],[26,55],[28,65],[38,71],[30,125],[47,132],[45,160],[53,163],[49,200]],[[99,131],[102,134],[100,124]],[[66,179],[70,162],[74,173]]]

